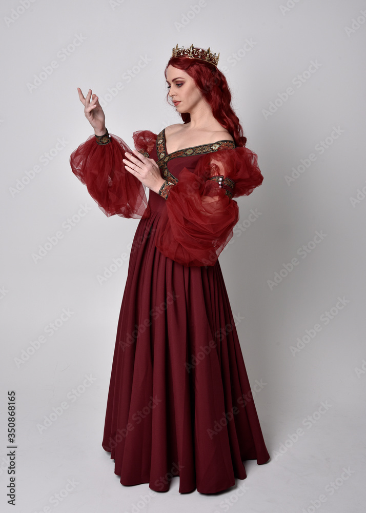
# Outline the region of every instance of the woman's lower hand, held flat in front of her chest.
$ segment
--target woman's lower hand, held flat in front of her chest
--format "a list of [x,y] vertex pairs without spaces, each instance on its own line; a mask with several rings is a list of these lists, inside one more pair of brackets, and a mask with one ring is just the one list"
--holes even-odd
[[148,159],[137,150],[133,150],[132,153],[126,152],[125,157],[123,162],[127,171],[136,176],[146,187],[158,193],[165,180],[161,177],[156,162],[153,159]]

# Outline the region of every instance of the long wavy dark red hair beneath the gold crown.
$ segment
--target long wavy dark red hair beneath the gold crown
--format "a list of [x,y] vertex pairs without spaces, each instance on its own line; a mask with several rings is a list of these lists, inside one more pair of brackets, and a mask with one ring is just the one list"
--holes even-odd
[[[225,75],[213,64],[187,57],[171,57],[165,68],[166,77],[170,65],[184,70],[193,78],[202,96],[211,106],[215,119],[232,135],[236,146],[245,146],[247,137],[243,135],[239,118],[231,107],[231,92]],[[167,100],[169,103],[169,92]],[[180,116],[184,123],[191,121],[189,112]]]

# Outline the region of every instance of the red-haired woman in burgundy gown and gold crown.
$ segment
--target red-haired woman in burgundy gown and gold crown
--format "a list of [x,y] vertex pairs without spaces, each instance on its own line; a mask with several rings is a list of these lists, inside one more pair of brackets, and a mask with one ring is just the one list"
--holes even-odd
[[[183,124],[109,135],[98,97],[78,89],[95,135],[73,172],[107,214],[140,218],[123,296],[103,447],[124,485],[212,494],[269,460],[217,257],[238,206],[263,180],[245,148],[218,56],[173,49],[168,96]],[[145,189],[150,189],[147,202]]]

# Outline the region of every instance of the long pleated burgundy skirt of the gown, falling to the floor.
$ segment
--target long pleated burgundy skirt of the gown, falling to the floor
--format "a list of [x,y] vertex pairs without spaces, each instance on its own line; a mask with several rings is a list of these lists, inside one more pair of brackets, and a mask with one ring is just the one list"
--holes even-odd
[[155,247],[160,213],[141,219],[118,321],[103,448],[124,485],[225,490],[266,463],[253,394],[218,261],[186,267]]

